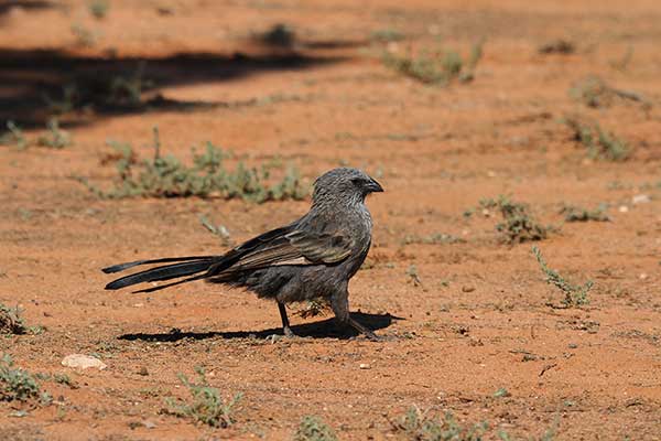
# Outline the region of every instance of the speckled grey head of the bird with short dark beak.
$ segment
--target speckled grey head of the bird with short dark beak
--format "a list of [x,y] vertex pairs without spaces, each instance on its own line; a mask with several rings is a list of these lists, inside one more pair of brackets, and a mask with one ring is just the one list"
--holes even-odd
[[364,171],[339,168],[317,178],[314,182],[312,202],[313,204],[329,201],[362,203],[368,194],[382,191],[381,184]]

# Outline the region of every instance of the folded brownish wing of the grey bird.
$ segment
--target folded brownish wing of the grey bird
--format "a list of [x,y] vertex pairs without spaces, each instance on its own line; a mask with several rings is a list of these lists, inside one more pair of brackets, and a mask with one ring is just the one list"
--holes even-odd
[[[208,276],[281,265],[337,263],[346,259],[354,240],[337,233],[311,233],[292,226],[264,233],[235,248],[231,265],[212,268]],[[225,260],[225,259],[224,259]]]

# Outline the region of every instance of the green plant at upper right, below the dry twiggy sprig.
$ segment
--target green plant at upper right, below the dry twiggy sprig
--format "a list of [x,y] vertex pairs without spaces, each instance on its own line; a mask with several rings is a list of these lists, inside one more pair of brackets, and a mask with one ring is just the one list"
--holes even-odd
[[586,123],[577,118],[565,118],[564,123],[572,130],[574,140],[582,143],[588,157],[603,161],[626,161],[631,153],[627,142],[602,129],[598,123]]

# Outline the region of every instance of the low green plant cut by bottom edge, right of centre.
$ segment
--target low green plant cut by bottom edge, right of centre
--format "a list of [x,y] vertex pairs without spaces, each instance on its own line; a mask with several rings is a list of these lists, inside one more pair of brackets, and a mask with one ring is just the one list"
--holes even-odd
[[432,418],[418,407],[411,407],[407,413],[391,421],[395,434],[411,441],[480,441],[488,424],[483,422],[472,427],[462,427],[451,412],[443,419]]

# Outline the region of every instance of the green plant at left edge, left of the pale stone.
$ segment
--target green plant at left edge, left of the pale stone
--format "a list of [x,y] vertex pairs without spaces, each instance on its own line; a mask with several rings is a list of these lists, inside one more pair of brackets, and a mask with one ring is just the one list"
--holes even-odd
[[15,368],[9,354],[0,358],[0,401],[39,400],[43,405],[51,402],[51,396],[42,392],[36,379],[28,370]]

